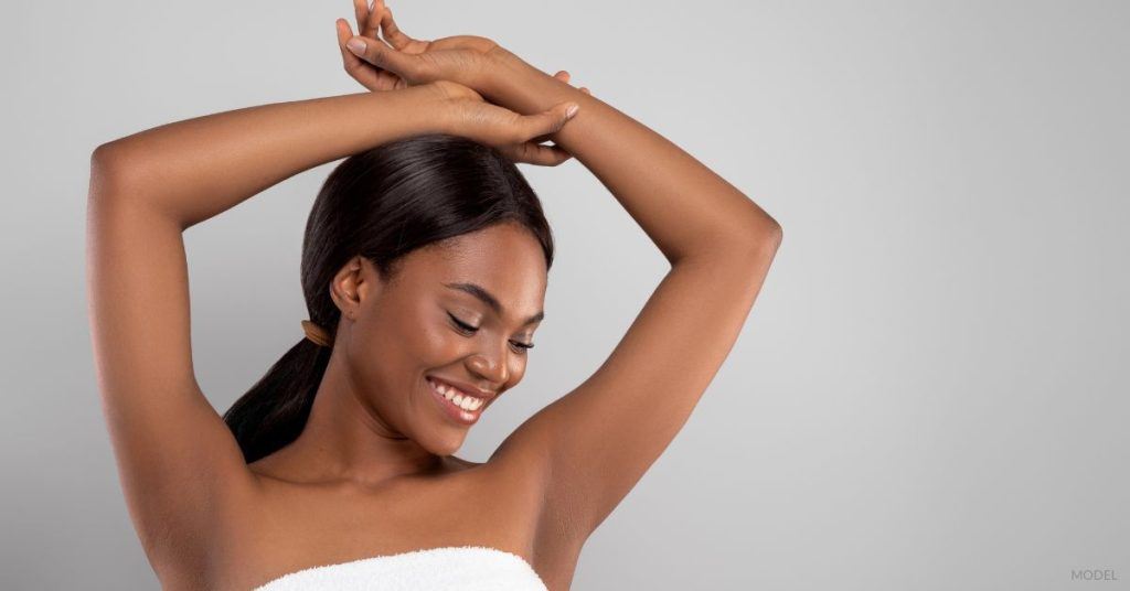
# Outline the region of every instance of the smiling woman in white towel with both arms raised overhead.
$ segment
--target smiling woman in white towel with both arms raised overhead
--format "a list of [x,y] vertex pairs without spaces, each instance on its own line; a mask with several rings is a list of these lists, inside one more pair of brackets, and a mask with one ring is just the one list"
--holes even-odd
[[[339,21],[338,41],[370,92],[92,157],[95,355],[131,516],[166,589],[568,589],[729,354],[781,228],[567,73],[355,6],[362,34]],[[342,157],[306,227],[306,338],[221,418],[193,375],[182,234]],[[514,162],[571,157],[671,269],[596,373],[486,462],[461,460],[544,315],[553,240]]]

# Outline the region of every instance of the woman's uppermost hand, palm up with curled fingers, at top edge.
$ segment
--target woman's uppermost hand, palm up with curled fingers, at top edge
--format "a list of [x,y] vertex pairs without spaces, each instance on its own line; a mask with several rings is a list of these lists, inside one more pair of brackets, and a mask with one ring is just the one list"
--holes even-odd
[[[489,67],[487,63],[489,57],[494,52],[502,51],[497,43],[473,35],[457,35],[435,41],[412,38],[397,26],[392,18],[392,9],[384,5],[384,0],[375,0],[372,11],[364,0],[354,0],[354,12],[357,19],[357,36],[365,43],[365,50],[355,54],[348,49],[347,44],[354,35],[349,23],[342,18],[336,21],[338,49],[341,51],[342,66],[349,76],[370,90],[393,90],[438,79],[450,79],[472,89],[481,88],[479,85],[484,70]],[[383,42],[377,37],[377,32],[383,36]],[[389,43],[397,52],[417,58],[405,61],[399,60],[397,55],[390,57]],[[382,54],[386,59],[397,60],[395,63],[390,62],[385,64],[388,67],[382,67],[384,63],[381,61]],[[408,70],[405,70],[406,67]],[[406,73],[407,77],[398,72]],[[567,84],[570,73],[560,70],[554,78]],[[585,87],[581,87],[581,92],[592,94]]]

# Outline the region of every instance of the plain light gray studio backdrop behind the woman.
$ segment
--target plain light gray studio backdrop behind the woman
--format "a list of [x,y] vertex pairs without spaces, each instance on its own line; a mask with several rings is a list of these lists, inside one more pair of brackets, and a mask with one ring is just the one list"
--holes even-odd
[[[1130,581],[1125,2],[390,2],[652,127],[784,227],[694,416],[574,589],[1115,589]],[[111,139],[362,90],[334,2],[5,3],[0,588],[151,589],[99,407],[88,158]],[[325,165],[185,236],[226,409],[302,337]],[[522,165],[559,242],[485,460],[605,359],[666,270],[577,162]],[[1118,582],[1071,581],[1072,568]]]

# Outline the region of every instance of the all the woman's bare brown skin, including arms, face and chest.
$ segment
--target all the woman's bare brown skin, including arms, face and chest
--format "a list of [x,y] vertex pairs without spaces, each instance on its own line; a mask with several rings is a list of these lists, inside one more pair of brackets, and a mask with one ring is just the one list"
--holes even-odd
[[[373,20],[391,23],[380,7]],[[493,42],[479,51],[447,37],[459,41],[414,54],[382,34],[393,41],[364,36],[362,59],[400,87],[169,123],[92,156],[99,390],[127,504],[165,589],[252,589],[311,566],[463,545],[518,554],[549,589],[568,589],[584,541],[725,360],[781,243],[748,197],[562,77]],[[424,375],[499,394],[520,382],[534,354],[518,344],[537,327],[524,320],[545,301],[536,241],[510,224],[460,236],[411,253],[392,283],[355,258],[328,286],[341,321],[305,431],[246,464],[194,375],[183,233],[302,171],[428,132],[515,162],[575,158],[670,270],[591,376],[475,463],[451,455],[467,429],[438,411]],[[483,285],[501,311],[444,285],[454,281]]]

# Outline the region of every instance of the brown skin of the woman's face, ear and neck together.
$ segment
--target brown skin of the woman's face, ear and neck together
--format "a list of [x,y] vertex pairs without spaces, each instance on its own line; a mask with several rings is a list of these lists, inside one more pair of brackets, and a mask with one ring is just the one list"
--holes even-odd
[[[294,443],[252,470],[375,488],[402,475],[464,467],[445,458],[462,446],[468,428],[440,411],[424,376],[499,394],[514,388],[529,358],[515,342],[534,342],[537,323],[523,327],[522,320],[542,310],[546,280],[540,244],[514,224],[415,251],[391,285],[367,259],[354,259],[330,287],[342,320],[310,420]],[[486,287],[506,303],[505,315],[449,283]],[[479,330],[464,336],[449,313]]]

